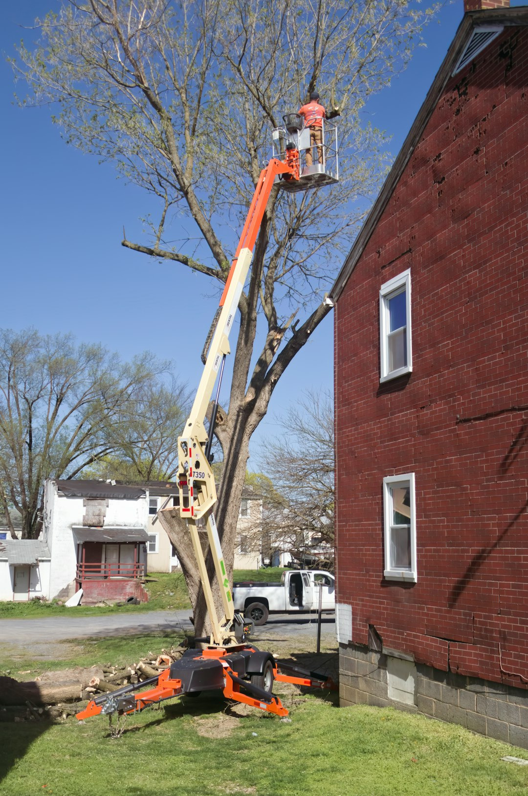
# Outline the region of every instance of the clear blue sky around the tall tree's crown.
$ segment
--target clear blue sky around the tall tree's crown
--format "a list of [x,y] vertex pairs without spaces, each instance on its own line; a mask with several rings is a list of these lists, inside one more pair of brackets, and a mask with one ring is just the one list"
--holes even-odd
[[[182,329],[181,302],[197,298],[205,318],[215,298],[200,275],[183,266],[151,262],[120,245],[123,225],[130,240],[142,240],[149,208],[134,185],[116,178],[111,164],[66,146],[49,108],[13,104],[14,80],[6,56],[33,33],[31,25],[59,4],[17,0],[2,14],[2,309],[0,326],[34,326],[43,334],[72,332],[78,341],[102,342],[123,359],[143,350],[176,361],[183,380],[200,378],[203,340]],[[424,3],[425,5],[425,3]],[[522,2],[511,2],[512,6]],[[425,29],[426,47],[410,67],[373,100],[366,114],[392,136],[398,150],[440,67],[463,16],[463,0],[446,3]],[[145,240],[143,238],[143,240]],[[208,295],[209,294],[209,295]],[[274,416],[308,388],[332,388],[332,314],[287,369],[255,443],[274,435]],[[182,334],[183,332],[183,334]],[[250,467],[256,469],[258,444]]]

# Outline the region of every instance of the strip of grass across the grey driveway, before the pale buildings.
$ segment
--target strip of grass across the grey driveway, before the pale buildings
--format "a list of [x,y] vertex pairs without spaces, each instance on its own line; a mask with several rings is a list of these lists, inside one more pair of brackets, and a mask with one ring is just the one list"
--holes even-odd
[[[266,568],[259,570],[239,569],[234,572],[234,580],[280,580],[283,569]],[[56,601],[41,603],[40,600],[31,600],[29,603],[0,602],[0,619],[35,619],[45,616],[60,616],[61,614],[94,616],[104,614],[127,613],[141,614],[144,611],[178,611],[190,608],[184,576],[181,572],[156,572],[147,576],[145,583],[149,593],[149,602],[140,605],[119,606],[76,606],[66,608],[58,605]]]

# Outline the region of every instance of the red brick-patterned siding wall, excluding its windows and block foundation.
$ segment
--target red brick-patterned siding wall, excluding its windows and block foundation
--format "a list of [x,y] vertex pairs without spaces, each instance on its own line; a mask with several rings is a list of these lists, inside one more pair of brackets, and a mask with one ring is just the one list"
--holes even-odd
[[[419,662],[512,685],[528,678],[526,87],[522,29],[452,78],[336,306],[353,641],[373,624]],[[413,373],[379,384],[379,288],[406,268]],[[400,586],[383,579],[382,478],[407,472],[418,576]]]

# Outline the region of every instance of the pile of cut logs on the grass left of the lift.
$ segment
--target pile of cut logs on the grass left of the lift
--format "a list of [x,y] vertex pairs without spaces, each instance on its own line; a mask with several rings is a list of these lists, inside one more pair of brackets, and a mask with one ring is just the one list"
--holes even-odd
[[39,678],[19,682],[13,677],[0,677],[0,722],[74,716],[97,694],[156,677],[183,654],[182,647],[171,647],[161,650],[159,655],[149,653],[129,666],[97,667],[102,677],[80,677],[55,683]]

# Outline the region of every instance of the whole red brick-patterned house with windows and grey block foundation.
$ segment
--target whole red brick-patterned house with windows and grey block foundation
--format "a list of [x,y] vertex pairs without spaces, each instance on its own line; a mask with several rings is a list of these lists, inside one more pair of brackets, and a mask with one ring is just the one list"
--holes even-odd
[[528,7],[464,10],[329,296],[340,700],[528,747]]

